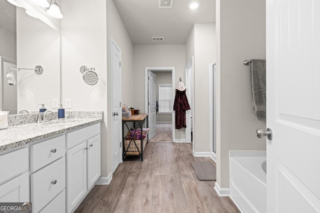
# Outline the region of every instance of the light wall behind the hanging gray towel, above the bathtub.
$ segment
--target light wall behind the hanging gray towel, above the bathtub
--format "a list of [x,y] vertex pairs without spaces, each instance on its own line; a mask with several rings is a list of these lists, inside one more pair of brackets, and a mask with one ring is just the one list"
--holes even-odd
[[[254,117],[249,66],[265,58],[265,0],[216,0],[217,25],[217,184],[229,186],[229,150],[265,150],[255,136],[265,123]],[[218,85],[217,85],[218,86]]]

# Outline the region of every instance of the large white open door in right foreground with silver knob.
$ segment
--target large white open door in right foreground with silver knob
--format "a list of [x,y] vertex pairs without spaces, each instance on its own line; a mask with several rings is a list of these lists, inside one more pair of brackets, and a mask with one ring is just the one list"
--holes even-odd
[[320,212],[320,1],[266,1],[267,212]]

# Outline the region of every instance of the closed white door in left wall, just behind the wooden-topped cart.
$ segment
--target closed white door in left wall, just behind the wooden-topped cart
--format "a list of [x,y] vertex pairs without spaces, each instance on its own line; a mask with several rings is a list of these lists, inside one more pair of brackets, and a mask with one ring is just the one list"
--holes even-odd
[[121,158],[121,53],[112,41],[111,47],[112,75],[112,173],[120,163]]

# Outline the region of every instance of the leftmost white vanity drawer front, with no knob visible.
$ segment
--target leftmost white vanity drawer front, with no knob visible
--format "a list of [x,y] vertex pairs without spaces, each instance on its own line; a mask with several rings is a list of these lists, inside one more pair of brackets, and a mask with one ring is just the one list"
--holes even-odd
[[28,148],[0,156],[0,184],[29,169]]

